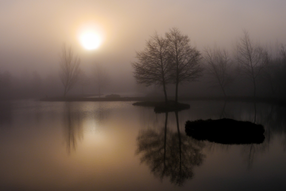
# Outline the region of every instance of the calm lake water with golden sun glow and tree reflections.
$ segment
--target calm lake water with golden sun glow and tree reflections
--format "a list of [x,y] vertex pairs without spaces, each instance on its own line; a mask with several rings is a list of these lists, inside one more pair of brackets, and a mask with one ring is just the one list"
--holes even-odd
[[[286,190],[284,107],[189,101],[176,116],[132,103],[0,103],[0,190]],[[208,118],[255,121],[265,140],[186,135],[186,120]]]

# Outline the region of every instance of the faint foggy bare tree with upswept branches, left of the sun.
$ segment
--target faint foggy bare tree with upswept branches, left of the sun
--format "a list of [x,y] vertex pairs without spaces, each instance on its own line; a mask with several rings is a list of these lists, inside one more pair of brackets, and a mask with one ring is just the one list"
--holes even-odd
[[74,57],[71,46],[66,47],[63,44],[62,53],[60,55],[60,79],[65,88],[63,96],[71,90],[77,83],[80,74],[80,59],[78,56]]

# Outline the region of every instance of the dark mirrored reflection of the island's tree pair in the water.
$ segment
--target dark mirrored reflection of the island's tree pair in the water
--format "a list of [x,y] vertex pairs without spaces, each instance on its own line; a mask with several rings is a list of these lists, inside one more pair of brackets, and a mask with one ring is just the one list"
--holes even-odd
[[202,154],[204,143],[180,133],[178,112],[175,112],[177,132],[165,126],[159,131],[147,129],[139,132],[136,154],[141,155],[141,163],[147,164],[151,172],[161,180],[169,177],[170,182],[179,186],[192,179],[193,167],[203,163],[206,157]]

